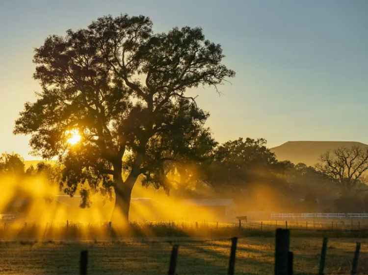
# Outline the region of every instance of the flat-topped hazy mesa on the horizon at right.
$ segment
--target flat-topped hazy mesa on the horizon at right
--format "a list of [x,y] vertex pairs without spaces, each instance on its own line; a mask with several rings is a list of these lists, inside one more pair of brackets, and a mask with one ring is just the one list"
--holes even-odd
[[314,166],[321,154],[339,147],[352,146],[368,148],[368,144],[357,141],[288,141],[270,150],[280,161],[290,160],[295,164],[303,162]]

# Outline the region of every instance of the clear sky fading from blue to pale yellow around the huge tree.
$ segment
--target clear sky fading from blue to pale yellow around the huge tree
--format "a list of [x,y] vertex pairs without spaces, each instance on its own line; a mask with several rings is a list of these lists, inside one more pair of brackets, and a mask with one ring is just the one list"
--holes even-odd
[[48,35],[86,27],[100,16],[145,15],[155,32],[203,28],[223,47],[236,77],[199,88],[198,105],[219,142],[266,138],[368,143],[368,1],[366,0],[0,0],[0,152],[26,160],[29,137],[14,121],[39,84],[34,48]]

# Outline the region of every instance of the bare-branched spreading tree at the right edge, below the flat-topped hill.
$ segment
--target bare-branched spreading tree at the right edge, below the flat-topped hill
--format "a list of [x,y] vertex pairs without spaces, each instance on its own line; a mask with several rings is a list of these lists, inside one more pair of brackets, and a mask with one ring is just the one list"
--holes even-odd
[[364,183],[364,172],[368,170],[368,148],[353,146],[338,148],[333,154],[326,152],[319,158],[316,169],[337,183],[342,196],[349,196],[360,183]]

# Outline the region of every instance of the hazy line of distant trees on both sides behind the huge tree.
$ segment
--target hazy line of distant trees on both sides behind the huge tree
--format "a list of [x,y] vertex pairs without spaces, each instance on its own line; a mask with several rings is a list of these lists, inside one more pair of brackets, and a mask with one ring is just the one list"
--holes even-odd
[[[278,161],[263,138],[238,138],[214,143],[201,161],[170,162],[165,190],[178,197],[233,198],[247,210],[368,211],[366,154],[356,147],[339,148],[323,154],[313,167]],[[0,174],[46,175],[52,183],[59,184],[60,190],[67,188],[62,181],[63,169],[65,166],[56,162],[53,165],[42,161],[25,169],[18,154],[3,153],[0,157]],[[262,206],[262,196],[269,195],[266,193],[276,200],[271,209]],[[112,198],[112,194],[108,195]],[[85,194],[80,206],[89,205]]]

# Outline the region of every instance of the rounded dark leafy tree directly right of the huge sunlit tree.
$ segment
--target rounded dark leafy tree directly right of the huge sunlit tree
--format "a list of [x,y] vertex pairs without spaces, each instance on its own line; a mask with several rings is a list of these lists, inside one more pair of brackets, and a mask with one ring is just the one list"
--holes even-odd
[[290,188],[285,172],[263,138],[238,138],[217,146],[206,169],[206,181],[221,198],[234,199],[244,211],[289,209]]

